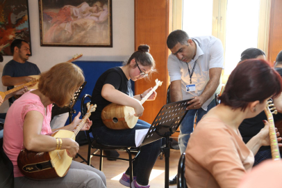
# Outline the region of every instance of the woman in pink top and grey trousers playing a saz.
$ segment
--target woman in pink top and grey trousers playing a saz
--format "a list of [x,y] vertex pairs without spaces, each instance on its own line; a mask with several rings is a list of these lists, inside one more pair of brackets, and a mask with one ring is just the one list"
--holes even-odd
[[[63,178],[49,180],[31,180],[26,178],[17,167],[17,156],[26,148],[35,152],[56,150],[57,141],[49,134],[51,130],[51,109],[56,103],[59,107],[69,104],[75,91],[84,82],[83,72],[72,63],[59,63],[49,71],[42,73],[38,90],[19,97],[8,110],[3,136],[3,150],[14,165],[15,187],[106,187],[106,177],[91,166],[72,161]],[[74,121],[57,130],[73,130],[80,122]],[[82,130],[89,130],[92,121],[88,119]],[[74,157],[79,150],[78,143],[72,139],[62,139],[61,150],[67,150]]]

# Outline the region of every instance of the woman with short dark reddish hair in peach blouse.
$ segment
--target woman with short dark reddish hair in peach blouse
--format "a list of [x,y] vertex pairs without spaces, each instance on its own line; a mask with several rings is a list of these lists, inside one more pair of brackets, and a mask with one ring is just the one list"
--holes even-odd
[[219,97],[221,104],[208,111],[189,140],[185,151],[189,188],[238,186],[253,166],[260,146],[269,146],[269,126],[264,121],[265,127],[247,144],[238,127],[245,118],[263,111],[269,97],[280,95],[281,84],[280,75],[264,60],[249,59],[238,64]]

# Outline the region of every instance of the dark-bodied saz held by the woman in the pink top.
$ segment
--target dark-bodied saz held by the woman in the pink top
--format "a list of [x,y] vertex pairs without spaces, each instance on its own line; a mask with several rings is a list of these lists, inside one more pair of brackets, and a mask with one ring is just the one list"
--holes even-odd
[[[76,134],[81,130],[86,120],[90,117],[91,112],[96,110],[96,104],[87,104],[88,111],[78,123],[74,130],[58,130],[51,136],[55,138],[70,138],[75,140]],[[72,164],[72,157],[67,155],[66,150],[53,150],[50,152],[33,152],[21,150],[17,157],[17,166],[19,170],[28,178],[49,179],[63,177],[67,174],[69,166]]]

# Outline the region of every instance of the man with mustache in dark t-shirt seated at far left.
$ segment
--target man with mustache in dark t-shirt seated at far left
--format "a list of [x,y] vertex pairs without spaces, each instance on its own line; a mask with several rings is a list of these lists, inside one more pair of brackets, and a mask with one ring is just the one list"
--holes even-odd
[[[31,55],[28,42],[15,39],[10,45],[10,50],[13,54],[13,60],[4,66],[2,74],[2,84],[7,86],[8,89],[33,81],[34,78],[28,77],[28,75],[40,75],[38,66],[27,61]],[[15,98],[13,97],[10,102],[14,101]]]

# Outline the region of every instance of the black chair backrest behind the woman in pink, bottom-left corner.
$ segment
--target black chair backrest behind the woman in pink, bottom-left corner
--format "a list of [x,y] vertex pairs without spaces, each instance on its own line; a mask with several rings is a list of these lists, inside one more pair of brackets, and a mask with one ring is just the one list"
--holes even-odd
[[3,151],[3,139],[0,146],[0,187],[14,187],[14,166]]

